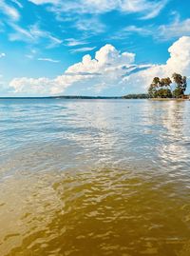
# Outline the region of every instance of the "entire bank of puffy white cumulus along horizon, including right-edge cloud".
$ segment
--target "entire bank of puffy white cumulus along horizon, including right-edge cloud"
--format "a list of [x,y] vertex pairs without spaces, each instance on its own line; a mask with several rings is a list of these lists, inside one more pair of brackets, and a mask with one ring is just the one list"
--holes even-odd
[[10,87],[16,92],[59,94],[66,88],[77,86],[77,91],[92,93],[117,89],[122,94],[126,89],[143,92],[154,76],[171,76],[173,72],[190,76],[190,37],[183,36],[169,49],[170,57],[163,65],[135,64],[135,54],[120,52],[112,45],[105,45],[92,58],[86,54],[82,61],[70,66],[64,74],[49,80],[47,78],[16,78]]

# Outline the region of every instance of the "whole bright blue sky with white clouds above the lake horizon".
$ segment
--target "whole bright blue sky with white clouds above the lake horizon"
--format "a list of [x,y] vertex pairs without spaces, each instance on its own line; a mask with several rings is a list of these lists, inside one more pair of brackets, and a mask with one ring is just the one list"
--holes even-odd
[[190,85],[189,10],[189,0],[0,0],[0,96],[142,93],[173,72]]

